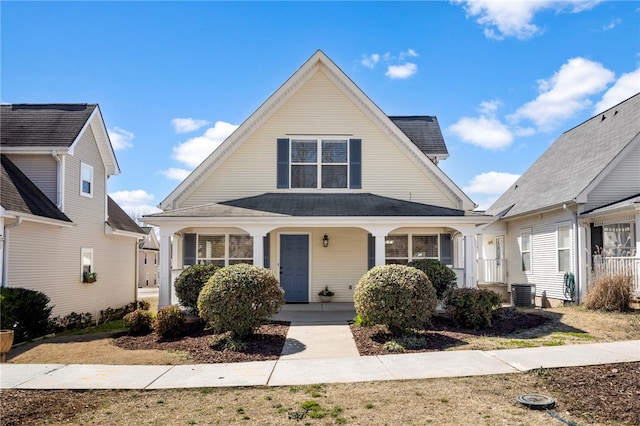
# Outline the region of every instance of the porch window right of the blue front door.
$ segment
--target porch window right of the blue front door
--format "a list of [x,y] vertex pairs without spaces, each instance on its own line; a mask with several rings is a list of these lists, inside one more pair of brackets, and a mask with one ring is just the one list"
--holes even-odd
[[[387,264],[406,265],[412,260],[440,260],[439,234],[392,234],[385,238]],[[449,256],[450,258],[450,256]]]

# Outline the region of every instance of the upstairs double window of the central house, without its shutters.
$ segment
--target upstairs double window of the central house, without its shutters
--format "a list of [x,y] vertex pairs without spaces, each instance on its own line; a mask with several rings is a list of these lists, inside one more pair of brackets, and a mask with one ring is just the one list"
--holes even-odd
[[291,188],[348,188],[349,141],[292,139]]

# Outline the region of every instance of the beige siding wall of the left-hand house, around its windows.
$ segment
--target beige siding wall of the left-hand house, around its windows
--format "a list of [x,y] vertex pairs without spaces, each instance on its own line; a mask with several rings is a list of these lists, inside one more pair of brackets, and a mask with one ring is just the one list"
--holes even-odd
[[[80,195],[80,162],[93,166],[93,198]],[[118,308],[135,300],[134,238],[105,235],[106,177],[91,128],[66,159],[66,214],[72,228],[23,222],[10,230],[8,285],[42,291],[53,316]],[[95,283],[81,282],[82,248],[93,249]]]

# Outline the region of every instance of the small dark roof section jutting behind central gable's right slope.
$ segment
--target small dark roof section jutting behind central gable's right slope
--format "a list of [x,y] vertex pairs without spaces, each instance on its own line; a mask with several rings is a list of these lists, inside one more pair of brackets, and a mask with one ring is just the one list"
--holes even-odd
[[420,115],[389,118],[428,157],[449,155],[436,117]]

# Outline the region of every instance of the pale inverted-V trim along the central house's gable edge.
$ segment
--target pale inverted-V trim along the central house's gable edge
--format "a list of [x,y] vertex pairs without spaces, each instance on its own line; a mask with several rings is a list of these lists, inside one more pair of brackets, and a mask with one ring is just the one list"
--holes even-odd
[[[322,70],[336,87],[353,101],[353,103],[371,119],[374,125],[381,128],[407,156],[421,164],[425,173],[429,174],[436,182],[439,182],[445,190],[445,193],[448,193],[452,200],[455,200],[465,210],[473,210],[475,208],[475,203],[321,50],[314,53],[311,58],[251,114],[244,123],[225,139],[214,152],[196,167],[196,169],[160,203],[159,207],[163,210],[176,208],[179,199],[186,197],[200,182],[211,175],[226,158],[231,156],[257,128],[266,122],[278,108],[303,87],[319,70]],[[402,121],[404,123],[406,120]],[[432,121],[431,123],[437,124],[437,121]],[[412,125],[409,126],[409,124]],[[408,123],[405,125],[405,128],[411,127],[413,131],[413,127],[418,127],[414,126],[415,124],[420,123]],[[423,128],[426,127],[424,123],[421,123],[421,125]],[[433,124],[428,126],[433,130]],[[418,140],[419,139],[420,138],[418,138]]]

